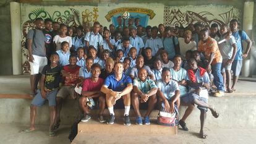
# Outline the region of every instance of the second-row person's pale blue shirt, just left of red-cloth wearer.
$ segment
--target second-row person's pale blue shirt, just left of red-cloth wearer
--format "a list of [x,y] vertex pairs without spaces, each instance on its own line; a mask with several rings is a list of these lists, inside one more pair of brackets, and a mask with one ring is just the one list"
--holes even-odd
[[[175,71],[173,68],[170,69],[170,71],[171,77],[173,78],[173,80],[176,80],[177,82],[181,82],[182,80],[187,79],[187,70],[183,69],[182,67],[177,71]],[[187,87],[179,85],[179,90],[181,91],[181,97],[187,94]]]

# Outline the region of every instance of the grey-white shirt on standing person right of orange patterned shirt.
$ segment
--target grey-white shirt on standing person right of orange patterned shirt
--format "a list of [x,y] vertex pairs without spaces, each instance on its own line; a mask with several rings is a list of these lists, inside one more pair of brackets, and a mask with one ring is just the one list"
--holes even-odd
[[[220,40],[224,40],[225,36],[226,35],[221,36]],[[223,59],[231,59],[233,55],[233,44],[236,44],[236,40],[233,35],[230,36],[229,40],[218,44]]]

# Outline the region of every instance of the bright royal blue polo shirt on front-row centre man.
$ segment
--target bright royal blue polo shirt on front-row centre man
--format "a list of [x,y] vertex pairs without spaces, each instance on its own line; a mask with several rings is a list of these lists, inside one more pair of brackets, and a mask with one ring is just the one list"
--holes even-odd
[[132,84],[132,78],[122,74],[121,80],[116,80],[116,75],[112,74],[106,77],[104,85],[113,91],[122,91],[127,85]]

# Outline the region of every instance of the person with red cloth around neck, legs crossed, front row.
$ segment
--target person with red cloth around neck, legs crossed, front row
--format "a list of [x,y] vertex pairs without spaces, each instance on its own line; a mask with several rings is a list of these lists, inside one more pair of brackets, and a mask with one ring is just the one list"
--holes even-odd
[[189,70],[187,71],[187,83],[190,92],[186,96],[182,96],[181,101],[186,104],[197,104],[197,108],[200,110],[200,137],[207,138],[207,134],[204,132],[207,116],[206,112],[210,109],[211,114],[213,114],[215,118],[217,118],[219,114],[213,106],[208,104],[210,79],[207,71],[202,67],[197,67],[195,59],[189,59],[188,64]]

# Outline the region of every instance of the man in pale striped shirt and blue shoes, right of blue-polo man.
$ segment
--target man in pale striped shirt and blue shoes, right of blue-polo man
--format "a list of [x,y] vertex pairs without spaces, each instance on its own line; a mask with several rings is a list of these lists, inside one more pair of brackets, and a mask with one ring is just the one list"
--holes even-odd
[[134,79],[134,88],[132,90],[132,106],[137,116],[136,124],[142,125],[142,116],[140,114],[140,103],[148,103],[147,112],[143,118],[143,124],[150,124],[150,113],[155,108],[157,102],[156,92],[157,87],[153,80],[148,78],[147,70],[140,69],[138,77]]

